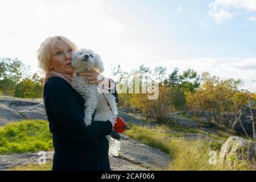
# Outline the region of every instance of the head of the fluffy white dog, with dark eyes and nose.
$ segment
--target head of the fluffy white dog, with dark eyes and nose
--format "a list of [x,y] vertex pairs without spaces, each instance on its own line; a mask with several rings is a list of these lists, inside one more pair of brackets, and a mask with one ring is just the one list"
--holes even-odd
[[99,73],[104,72],[101,57],[91,49],[82,48],[73,52],[72,66],[75,72],[84,72],[86,69],[97,69]]

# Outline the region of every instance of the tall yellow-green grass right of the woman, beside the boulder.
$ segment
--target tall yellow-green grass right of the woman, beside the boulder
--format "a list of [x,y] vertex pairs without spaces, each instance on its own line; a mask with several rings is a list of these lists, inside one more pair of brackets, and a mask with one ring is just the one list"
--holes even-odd
[[147,127],[130,125],[125,131],[129,137],[140,140],[148,146],[158,148],[173,159],[167,170],[201,171],[201,170],[252,170],[255,169],[247,162],[241,162],[237,167],[226,164],[209,164],[210,154],[216,154],[220,147],[218,143],[209,140],[185,140],[171,138],[163,132],[163,128],[150,130]]

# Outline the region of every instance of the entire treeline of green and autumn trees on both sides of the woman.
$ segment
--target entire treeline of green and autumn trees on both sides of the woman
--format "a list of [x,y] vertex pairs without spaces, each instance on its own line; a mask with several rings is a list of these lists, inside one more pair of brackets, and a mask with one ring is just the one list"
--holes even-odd
[[[227,125],[220,117],[222,112],[237,113],[250,99],[256,102],[256,93],[241,90],[242,80],[220,80],[219,77],[204,72],[199,75],[192,69],[180,73],[175,68],[167,75],[166,67],[154,70],[141,65],[131,72],[124,72],[121,65],[112,68],[114,80],[121,85],[120,107],[137,107],[145,114],[163,119],[171,111],[212,111],[216,125]],[[139,93],[135,93],[135,77],[138,77]],[[149,92],[142,93],[142,86],[158,83],[158,99],[149,100]],[[132,83],[130,90],[127,83]],[[30,67],[18,59],[0,58],[0,94],[22,98],[42,98],[43,78],[38,73],[31,74]]]

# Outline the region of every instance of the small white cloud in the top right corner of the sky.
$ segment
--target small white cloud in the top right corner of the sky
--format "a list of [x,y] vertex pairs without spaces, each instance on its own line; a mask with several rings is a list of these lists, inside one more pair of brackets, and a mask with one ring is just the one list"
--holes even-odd
[[255,0],[215,0],[209,4],[209,16],[214,18],[216,23],[223,23],[236,15],[236,10],[256,11]]

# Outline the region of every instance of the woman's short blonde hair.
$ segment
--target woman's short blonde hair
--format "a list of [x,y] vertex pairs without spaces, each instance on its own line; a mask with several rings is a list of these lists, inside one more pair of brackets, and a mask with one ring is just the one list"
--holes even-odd
[[54,53],[54,45],[57,42],[57,39],[63,40],[65,44],[73,51],[76,51],[78,48],[76,44],[71,42],[71,40],[65,38],[64,36],[50,36],[40,45],[37,51],[37,59],[38,59],[38,66],[42,69],[43,73],[49,72],[49,63],[51,60],[51,56]]

